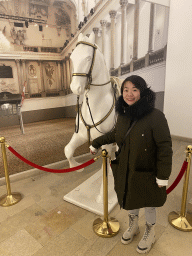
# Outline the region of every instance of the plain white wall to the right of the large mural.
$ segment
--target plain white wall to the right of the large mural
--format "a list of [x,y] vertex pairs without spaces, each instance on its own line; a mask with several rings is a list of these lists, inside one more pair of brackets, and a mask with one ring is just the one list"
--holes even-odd
[[171,0],[164,113],[172,135],[192,138],[192,2]]

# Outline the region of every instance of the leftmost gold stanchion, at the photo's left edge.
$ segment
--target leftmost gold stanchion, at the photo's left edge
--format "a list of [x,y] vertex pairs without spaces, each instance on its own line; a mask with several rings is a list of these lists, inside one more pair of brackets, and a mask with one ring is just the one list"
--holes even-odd
[[3,155],[5,180],[6,180],[6,185],[7,185],[7,195],[3,195],[2,197],[0,197],[0,206],[11,206],[11,205],[18,203],[21,200],[22,196],[20,193],[11,193],[4,137],[0,137],[0,144],[1,144],[1,150],[2,150],[2,155]]

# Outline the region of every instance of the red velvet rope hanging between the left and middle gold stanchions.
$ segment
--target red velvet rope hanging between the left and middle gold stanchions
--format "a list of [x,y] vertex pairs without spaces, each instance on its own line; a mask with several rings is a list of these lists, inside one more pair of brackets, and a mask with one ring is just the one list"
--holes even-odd
[[18,157],[20,160],[22,160],[23,162],[25,162],[26,164],[28,165],[31,165],[32,167],[34,168],[37,168],[41,171],[45,171],[45,172],[54,172],[54,173],[65,173],[65,172],[74,172],[74,171],[77,171],[79,169],[82,169],[88,165],[91,165],[95,162],[94,159],[91,159],[89,161],[87,161],[86,163],[84,164],[81,164],[81,165],[78,165],[76,167],[72,167],[72,168],[68,168],[68,169],[60,169],[60,170],[57,170],[57,169],[50,169],[50,168],[46,168],[46,167],[42,167],[40,165],[37,165],[37,164],[34,164],[32,162],[30,162],[29,160],[25,159],[23,156],[21,156],[19,153],[17,153],[11,146],[8,147],[8,149],[16,156]]

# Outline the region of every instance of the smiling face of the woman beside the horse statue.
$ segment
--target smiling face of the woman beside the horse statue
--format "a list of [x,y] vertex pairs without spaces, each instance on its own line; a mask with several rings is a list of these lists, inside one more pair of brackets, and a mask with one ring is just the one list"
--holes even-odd
[[133,105],[140,99],[140,90],[130,81],[127,81],[124,84],[123,99],[128,105]]

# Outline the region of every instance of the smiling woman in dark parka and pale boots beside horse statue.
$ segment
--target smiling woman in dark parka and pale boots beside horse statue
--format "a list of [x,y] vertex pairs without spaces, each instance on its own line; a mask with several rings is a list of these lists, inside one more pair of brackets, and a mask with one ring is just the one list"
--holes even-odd
[[[113,131],[93,140],[95,154],[104,144],[116,142],[117,168],[113,168],[115,191],[120,207],[128,210],[129,227],[121,242],[129,244],[139,233],[139,209],[145,208],[146,229],[137,246],[139,253],[150,251],[155,242],[156,207],[164,205],[172,167],[172,142],[164,114],[154,107],[155,93],[136,75],[126,78],[117,100],[117,123]],[[136,123],[135,123],[136,121]],[[134,124],[130,133],[125,134]]]

